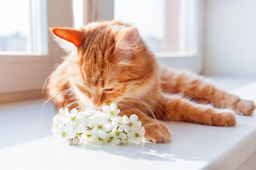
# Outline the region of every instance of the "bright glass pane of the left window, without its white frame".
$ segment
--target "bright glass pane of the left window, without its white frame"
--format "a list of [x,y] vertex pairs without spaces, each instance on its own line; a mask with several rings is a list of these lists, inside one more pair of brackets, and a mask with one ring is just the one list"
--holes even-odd
[[0,51],[27,51],[29,0],[0,1]]

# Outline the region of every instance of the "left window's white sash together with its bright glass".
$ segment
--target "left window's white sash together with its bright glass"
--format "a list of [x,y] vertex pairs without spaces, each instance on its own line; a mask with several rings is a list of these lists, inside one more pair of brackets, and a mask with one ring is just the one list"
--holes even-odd
[[46,1],[0,2],[0,53],[42,55],[47,53]]

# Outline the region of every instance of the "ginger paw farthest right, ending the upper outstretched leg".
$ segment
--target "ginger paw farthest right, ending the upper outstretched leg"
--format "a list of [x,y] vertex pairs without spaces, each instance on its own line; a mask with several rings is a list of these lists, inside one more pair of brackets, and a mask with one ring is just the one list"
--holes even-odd
[[255,105],[253,101],[240,100],[237,102],[236,106],[234,106],[233,110],[240,115],[252,115],[255,110]]

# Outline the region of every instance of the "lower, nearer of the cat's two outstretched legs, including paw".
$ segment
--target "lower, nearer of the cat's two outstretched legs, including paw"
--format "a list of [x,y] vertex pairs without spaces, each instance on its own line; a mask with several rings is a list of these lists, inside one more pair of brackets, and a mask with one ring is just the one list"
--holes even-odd
[[233,110],[201,105],[179,95],[165,97],[162,103],[166,110],[166,113],[163,113],[164,119],[215,126],[232,126],[236,123]]

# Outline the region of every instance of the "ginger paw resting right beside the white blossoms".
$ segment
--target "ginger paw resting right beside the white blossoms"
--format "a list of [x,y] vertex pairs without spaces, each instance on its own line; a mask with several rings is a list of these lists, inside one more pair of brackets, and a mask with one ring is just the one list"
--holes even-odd
[[161,122],[151,122],[143,125],[146,134],[144,138],[154,143],[169,142],[171,134],[168,128]]

